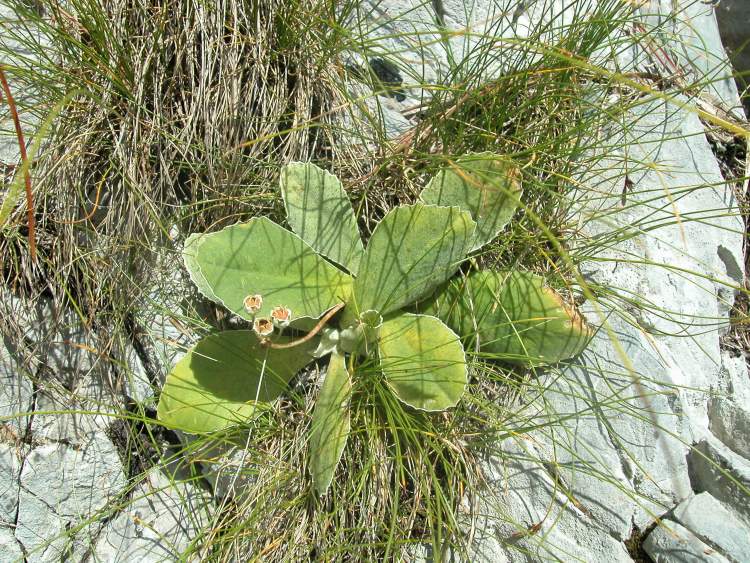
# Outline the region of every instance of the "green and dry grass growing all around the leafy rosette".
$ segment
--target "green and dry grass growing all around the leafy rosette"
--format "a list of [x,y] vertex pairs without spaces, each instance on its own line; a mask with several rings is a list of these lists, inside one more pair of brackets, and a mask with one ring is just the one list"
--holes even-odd
[[[0,237],[3,279],[29,306],[50,299],[74,310],[87,346],[99,358],[114,359],[115,384],[103,408],[125,421],[120,428],[137,445],[124,448],[138,460],[128,463],[131,483],[156,464],[174,480],[235,491],[207,506],[210,522],[182,557],[389,559],[429,544],[436,556],[452,551],[470,559],[474,531],[487,517],[482,498],[492,485],[483,461],[492,457],[505,467],[542,468],[577,510],[588,509],[570,482],[576,471],[632,494],[602,470],[595,452],[576,451],[566,425],[614,415],[663,425],[652,405],[661,405],[675,388],[658,377],[638,374],[634,387],[627,369],[603,366],[596,375],[607,387],[594,396],[565,366],[534,373],[472,353],[473,377],[462,403],[449,414],[426,416],[405,408],[377,370],[362,366],[352,402],[355,431],[331,492],[317,499],[305,467],[318,367],[300,374],[284,400],[247,428],[185,439],[158,425],[152,399],[134,397],[136,374],[124,358],[135,346],[149,367],[146,385],[158,392],[179,346],[235,326],[201,302],[176,272],[176,257],[190,232],[256,215],[279,219],[281,164],[313,159],[334,170],[351,194],[361,229],[370,233],[388,209],[413,202],[425,180],[453,156],[485,150],[518,162],[524,195],[523,210],[476,257],[478,265],[544,274],[571,300],[609,307],[634,324],[645,311],[671,319],[674,332],[691,325],[687,337],[697,342],[724,319],[686,319],[648,296],[587,282],[579,272],[591,259],[614,260],[607,250],[624,241],[731,213],[678,215],[674,206],[655,207],[662,205],[661,187],[634,183],[659,169],[654,159],[628,153],[648,125],[634,117],[646,104],[684,104],[717,135],[726,135],[723,114],[695,109],[703,79],[690,82],[670,68],[675,38],[669,18],[649,27],[620,0],[596,7],[575,2],[562,14],[544,1],[531,8],[535,19],[526,35],[510,39],[508,29],[518,31],[523,14],[514,21],[515,13],[498,11],[486,29],[462,35],[368,30],[353,2],[9,5],[13,15],[0,20],[0,52],[15,42],[31,53],[14,50],[8,59],[26,130],[33,131],[68,93],[79,93],[47,132],[33,169],[39,259],[29,260],[20,204]],[[394,17],[381,21],[387,25]],[[618,66],[633,45],[651,63],[642,72]],[[450,51],[437,80],[426,79],[407,47],[428,59],[436,50]],[[383,124],[394,86],[354,72],[347,62],[375,57],[399,67],[399,88],[419,116],[395,139]],[[608,134],[613,124],[624,134]],[[734,133],[744,127],[729,125]],[[579,202],[609,201],[598,191],[609,166],[609,181],[623,185],[617,212],[632,210],[638,219],[591,238],[590,225],[617,215],[605,209],[582,216]],[[730,168],[728,180],[738,189],[744,181],[746,191],[747,171]],[[670,197],[679,202],[700,189],[706,187],[686,185]],[[701,280],[698,272],[679,275]],[[746,295],[744,288],[727,287]],[[8,304],[2,306],[7,311]],[[746,326],[741,307],[736,327]],[[11,341],[22,334],[15,316],[2,315],[0,322]],[[159,323],[170,329],[167,336],[157,331]],[[747,349],[741,338],[732,342]],[[34,385],[48,382],[36,376]],[[553,395],[567,396],[578,410],[558,412]],[[542,439],[555,447],[552,473],[548,459],[526,445]],[[507,448],[509,442],[520,449]],[[637,457],[627,445],[623,449]],[[495,500],[493,510],[502,515],[503,499]],[[655,510],[646,498],[632,501]],[[563,513],[550,505],[539,521],[500,522],[513,532],[498,541],[519,552],[542,546],[551,559],[573,557],[544,543]],[[97,518],[109,516],[104,511]]]

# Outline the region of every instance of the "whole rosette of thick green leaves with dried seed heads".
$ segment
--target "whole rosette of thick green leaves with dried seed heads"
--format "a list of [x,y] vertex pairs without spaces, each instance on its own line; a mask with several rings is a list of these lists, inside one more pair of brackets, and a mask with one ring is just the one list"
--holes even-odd
[[[335,176],[293,163],[280,184],[291,230],[258,217],[187,239],[183,259],[198,289],[254,329],[219,332],[189,350],[167,377],[158,416],[192,433],[227,428],[272,404],[307,364],[330,356],[309,440],[313,485],[323,494],[346,446],[363,357],[378,362],[395,396],[414,409],[442,411],[460,400],[468,369],[459,334],[472,332],[480,317],[455,297],[461,288],[451,278],[510,220],[519,172],[497,155],[457,159],[420,202],[392,209],[366,247]],[[496,289],[482,294],[483,304]],[[536,306],[504,310],[535,317]],[[485,320],[497,323],[492,314]],[[292,329],[306,334],[291,336]]]

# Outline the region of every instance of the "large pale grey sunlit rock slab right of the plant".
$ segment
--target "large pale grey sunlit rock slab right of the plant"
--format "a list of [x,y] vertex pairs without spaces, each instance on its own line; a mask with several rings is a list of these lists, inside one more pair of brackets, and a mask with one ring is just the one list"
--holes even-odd
[[[726,267],[727,254],[742,263],[738,217],[712,218],[711,228],[708,219],[700,228],[675,221],[675,215],[698,218],[706,210],[736,206],[729,189],[716,187],[723,179],[697,118],[647,102],[628,122],[627,157],[657,163],[669,174],[633,166],[628,203],[642,205],[622,206],[625,155],[615,154],[602,163],[596,180],[588,178],[596,186],[593,197],[587,189],[571,196],[582,202],[583,229],[592,240],[613,228],[632,228],[622,242],[602,245],[595,261],[583,263],[581,270],[600,286],[658,303],[669,314],[648,305],[638,308],[627,299],[615,301],[617,307],[602,301],[598,310],[587,304],[586,317],[595,326],[606,320],[607,327],[599,329],[576,361],[540,376],[543,398],[518,408],[523,415],[515,424],[535,444],[536,453],[518,470],[505,462],[504,471],[513,478],[492,485],[504,492],[492,509],[500,524],[491,519],[485,524],[502,529],[507,540],[518,533],[518,523],[541,522],[554,498],[550,479],[557,474],[564,483],[558,491],[562,487],[569,495],[557,499],[557,505],[567,508],[556,508],[562,515],[554,518],[554,529],[544,523],[535,536],[544,538],[550,552],[565,549],[575,538],[585,543],[584,560],[608,559],[602,553],[614,545],[623,550],[619,542],[629,537],[634,524],[643,528],[653,514],[692,494],[687,444],[708,431],[706,391],[717,389],[726,372],[717,331],[704,330],[697,319],[707,311],[712,319],[725,314],[719,289],[736,283]],[[684,189],[696,185],[706,187]],[[677,193],[679,198],[671,195]],[[638,230],[638,225],[653,223],[661,226]],[[660,264],[680,268],[679,275]],[[680,334],[689,336],[676,336]],[[526,430],[534,427],[541,430]],[[485,536],[497,543],[492,533]],[[529,541],[534,538],[524,539]],[[541,557],[541,551],[535,553]],[[508,556],[517,557],[515,551]]]

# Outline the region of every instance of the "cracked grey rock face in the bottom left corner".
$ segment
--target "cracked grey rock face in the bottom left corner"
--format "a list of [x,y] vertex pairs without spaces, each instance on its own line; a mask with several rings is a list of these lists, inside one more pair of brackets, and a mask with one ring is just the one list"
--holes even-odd
[[28,330],[23,349],[0,346],[0,561],[178,558],[212,500],[157,469],[129,470],[136,454],[110,430],[122,407],[109,366],[75,315],[1,302]]

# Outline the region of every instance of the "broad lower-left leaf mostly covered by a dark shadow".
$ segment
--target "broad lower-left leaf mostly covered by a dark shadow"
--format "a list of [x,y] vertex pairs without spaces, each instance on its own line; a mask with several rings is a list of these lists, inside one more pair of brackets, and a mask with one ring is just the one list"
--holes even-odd
[[[280,336],[274,342],[291,339]],[[185,432],[212,432],[246,421],[255,398],[267,404],[313,359],[317,339],[287,350],[261,346],[249,330],[233,330],[198,342],[164,383],[159,420]]]

